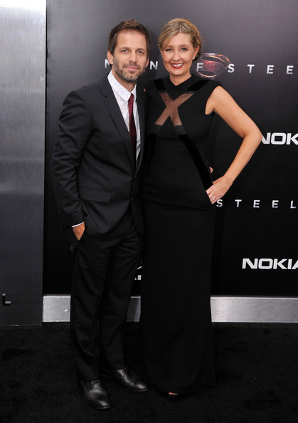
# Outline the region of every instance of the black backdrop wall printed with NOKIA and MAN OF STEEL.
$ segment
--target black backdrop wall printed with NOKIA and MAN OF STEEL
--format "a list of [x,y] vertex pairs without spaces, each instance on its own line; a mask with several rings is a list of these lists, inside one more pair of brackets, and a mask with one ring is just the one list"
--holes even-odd
[[[296,0],[48,1],[45,293],[69,293],[71,263],[59,229],[50,155],[65,95],[105,75],[107,35],[122,19],[152,36],[142,84],[165,75],[159,30],[176,17],[205,40],[193,72],[220,80],[264,138],[230,192],[218,202],[213,295],[298,296],[298,5]],[[223,174],[240,140],[215,118],[210,160]],[[138,282],[134,293],[139,292]]]

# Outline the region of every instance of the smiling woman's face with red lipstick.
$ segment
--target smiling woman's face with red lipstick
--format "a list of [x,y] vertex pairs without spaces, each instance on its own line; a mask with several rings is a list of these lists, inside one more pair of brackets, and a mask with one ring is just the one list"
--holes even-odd
[[161,51],[164,67],[169,72],[171,81],[181,83],[191,75],[190,69],[199,47],[193,48],[191,37],[186,33],[177,33]]

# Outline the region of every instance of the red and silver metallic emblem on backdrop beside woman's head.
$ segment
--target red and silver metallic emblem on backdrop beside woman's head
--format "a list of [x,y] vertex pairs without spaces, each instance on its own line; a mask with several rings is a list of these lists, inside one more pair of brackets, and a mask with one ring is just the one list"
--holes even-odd
[[198,68],[198,74],[203,78],[212,79],[223,73],[231,62],[225,54],[203,53],[200,63],[203,63],[203,66]]

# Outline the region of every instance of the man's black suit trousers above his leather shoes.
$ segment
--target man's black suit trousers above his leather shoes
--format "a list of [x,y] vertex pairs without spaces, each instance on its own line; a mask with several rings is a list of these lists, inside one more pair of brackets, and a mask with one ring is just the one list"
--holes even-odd
[[110,239],[86,230],[75,246],[70,339],[78,376],[100,377],[100,368],[125,367],[122,328],[141,259],[142,236],[129,213]]

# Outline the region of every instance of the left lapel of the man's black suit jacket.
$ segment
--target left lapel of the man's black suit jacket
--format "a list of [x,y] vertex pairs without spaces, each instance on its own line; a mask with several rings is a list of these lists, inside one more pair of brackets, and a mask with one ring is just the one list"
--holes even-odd
[[112,120],[115,123],[115,127],[117,127],[122,142],[124,143],[124,146],[127,150],[129,159],[131,160],[132,165],[134,166],[134,157],[132,155],[132,140],[130,138],[129,132],[127,130],[127,125],[125,125],[122,113],[119,109],[119,105],[112,91],[111,85],[107,80],[107,77],[101,80],[100,85],[102,88],[102,94],[105,95],[105,106],[110,112]]

